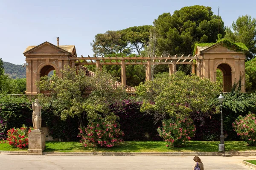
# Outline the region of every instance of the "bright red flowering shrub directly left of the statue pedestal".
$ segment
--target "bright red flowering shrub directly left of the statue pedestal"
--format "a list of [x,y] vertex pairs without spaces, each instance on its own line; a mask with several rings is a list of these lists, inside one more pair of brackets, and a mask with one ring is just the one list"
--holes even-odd
[[12,128],[7,130],[7,141],[11,146],[14,147],[27,147],[29,145],[29,133],[31,132],[31,128],[28,128],[23,125],[20,128]]

